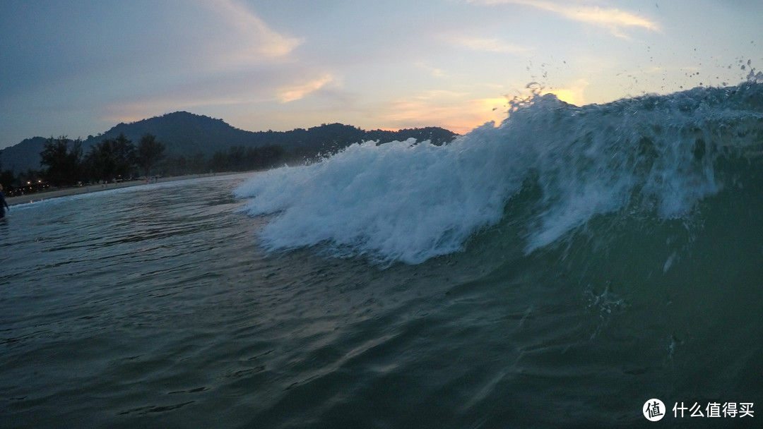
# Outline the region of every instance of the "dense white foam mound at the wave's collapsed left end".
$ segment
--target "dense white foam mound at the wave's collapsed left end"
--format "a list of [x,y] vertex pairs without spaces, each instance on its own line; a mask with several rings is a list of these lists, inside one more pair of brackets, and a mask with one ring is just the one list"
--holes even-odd
[[507,177],[501,153],[474,144],[480,135],[448,146],[365,142],[324,162],[260,174],[236,195],[255,197],[250,214],[278,213],[261,233],[268,248],[330,243],[416,264],[458,251],[475,230],[497,223],[520,184],[496,180]]

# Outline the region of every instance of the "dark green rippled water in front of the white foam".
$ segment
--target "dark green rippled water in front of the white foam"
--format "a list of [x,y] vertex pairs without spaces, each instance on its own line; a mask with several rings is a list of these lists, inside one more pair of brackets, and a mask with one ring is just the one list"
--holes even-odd
[[417,265],[266,255],[248,177],[14,206],[0,427],[641,427],[653,397],[761,399],[755,267],[719,306],[581,283],[501,226]]

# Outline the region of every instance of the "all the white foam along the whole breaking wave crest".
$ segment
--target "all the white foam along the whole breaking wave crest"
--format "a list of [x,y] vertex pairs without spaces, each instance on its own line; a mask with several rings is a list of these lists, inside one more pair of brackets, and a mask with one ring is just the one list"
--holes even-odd
[[594,216],[630,206],[687,216],[720,190],[714,162],[752,147],[763,130],[763,85],[694,88],[575,107],[552,94],[516,107],[446,146],[365,142],[314,165],[258,174],[235,194],[271,251],[323,245],[336,255],[417,264],[460,251],[501,221],[533,181],[526,251]]

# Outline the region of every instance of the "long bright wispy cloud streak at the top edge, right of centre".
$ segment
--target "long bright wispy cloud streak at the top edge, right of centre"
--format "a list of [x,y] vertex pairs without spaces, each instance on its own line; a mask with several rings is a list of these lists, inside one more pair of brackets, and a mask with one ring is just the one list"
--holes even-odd
[[658,25],[654,21],[649,21],[637,14],[627,11],[620,11],[616,8],[600,8],[597,6],[583,6],[577,4],[557,3],[548,0],[469,0],[473,3],[483,5],[524,5],[532,8],[539,8],[544,11],[561,14],[565,18],[573,21],[581,21],[587,24],[593,24],[607,28],[617,36],[628,38],[623,29],[626,27],[644,28],[646,30],[658,30]]

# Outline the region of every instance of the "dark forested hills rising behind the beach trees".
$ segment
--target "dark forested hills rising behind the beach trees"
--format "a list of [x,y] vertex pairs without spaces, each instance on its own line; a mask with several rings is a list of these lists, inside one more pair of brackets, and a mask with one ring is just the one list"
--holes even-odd
[[[419,141],[430,140],[434,144],[443,144],[456,137],[456,133],[439,127],[365,131],[341,123],[314,126],[307,130],[298,128],[281,132],[253,132],[239,130],[221,119],[188,112],[175,112],[134,123],[119,123],[98,136],[88,136],[82,143],[82,149],[88,152],[92,146],[104,139],[115,139],[120,134],[124,134],[127,139],[137,143],[146,133],[153,134],[156,140],[166,146],[166,155],[169,157],[187,158],[198,157],[198,155],[211,158],[214,153],[226,152],[233,147],[248,149],[261,146],[281,146],[291,155],[290,158],[312,158],[319,153],[336,152],[353,143],[367,140],[389,142],[413,137]],[[69,138],[76,138],[76,136],[69,136]],[[14,174],[27,171],[27,169],[39,169],[40,152],[44,142],[45,139],[35,137],[6,148],[2,151],[0,168],[12,170]]]

